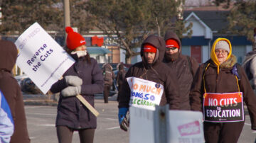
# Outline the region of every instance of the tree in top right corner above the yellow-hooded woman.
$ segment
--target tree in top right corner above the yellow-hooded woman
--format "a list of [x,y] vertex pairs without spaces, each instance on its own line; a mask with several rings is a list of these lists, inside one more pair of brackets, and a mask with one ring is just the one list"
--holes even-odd
[[228,16],[230,30],[233,34],[245,35],[252,42],[252,48],[256,48],[254,29],[256,28],[256,1],[238,1],[231,9]]

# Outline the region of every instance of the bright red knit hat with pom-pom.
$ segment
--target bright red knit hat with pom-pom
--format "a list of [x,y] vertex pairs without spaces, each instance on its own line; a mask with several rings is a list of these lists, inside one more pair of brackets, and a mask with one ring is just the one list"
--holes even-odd
[[68,49],[74,50],[75,48],[85,45],[85,38],[82,37],[79,33],[74,32],[74,30],[71,27],[65,28],[66,33],[68,33],[66,45]]

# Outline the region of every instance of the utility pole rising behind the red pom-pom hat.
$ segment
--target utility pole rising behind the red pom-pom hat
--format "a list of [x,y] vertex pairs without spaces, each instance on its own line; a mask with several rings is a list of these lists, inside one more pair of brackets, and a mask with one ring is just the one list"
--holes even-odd
[[[63,0],[63,1],[64,1],[64,31],[65,31],[65,27],[70,26],[70,3],[69,3],[69,0]],[[65,45],[66,38],[67,38],[67,33],[65,33],[64,45]]]

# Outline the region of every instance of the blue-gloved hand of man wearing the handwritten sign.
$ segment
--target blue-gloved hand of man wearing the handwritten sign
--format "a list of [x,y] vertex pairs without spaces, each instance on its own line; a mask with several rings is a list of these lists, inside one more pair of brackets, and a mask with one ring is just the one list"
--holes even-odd
[[118,120],[120,128],[124,131],[127,131],[127,127],[129,127],[129,122],[126,118],[128,112],[128,108],[119,108],[118,111]]

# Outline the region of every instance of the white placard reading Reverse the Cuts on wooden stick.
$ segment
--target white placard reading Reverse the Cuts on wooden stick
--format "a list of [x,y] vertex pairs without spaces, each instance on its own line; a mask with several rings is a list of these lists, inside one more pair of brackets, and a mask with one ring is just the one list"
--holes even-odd
[[18,48],[16,64],[43,93],[75,62],[38,23],[25,30],[15,45]]

